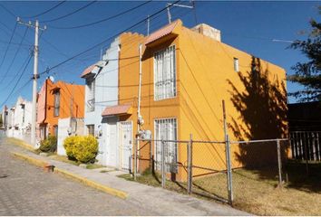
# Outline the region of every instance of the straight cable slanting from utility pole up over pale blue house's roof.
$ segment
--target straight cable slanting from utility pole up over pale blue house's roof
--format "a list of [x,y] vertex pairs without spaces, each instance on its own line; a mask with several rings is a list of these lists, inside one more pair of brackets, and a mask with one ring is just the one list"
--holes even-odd
[[[171,5],[177,4],[177,3],[179,3],[179,2],[180,2],[180,0],[176,1],[175,3],[173,3],[173,4],[171,4]],[[161,12],[167,10],[167,8],[170,7],[171,5],[167,5],[166,7],[164,7],[164,8],[161,9],[161,10],[159,10],[158,12],[156,12],[156,13],[154,13],[154,14],[151,14],[150,17],[153,17],[153,16],[155,16],[155,15],[157,15],[157,14],[160,14]],[[135,27],[135,26],[137,26],[137,25],[139,25],[139,24],[144,24],[144,23],[146,22],[146,20],[147,20],[147,18],[144,18],[144,19],[141,20],[140,22],[138,22],[138,23],[136,23],[136,24],[132,24],[130,27],[126,28],[125,30],[123,30],[123,31],[121,31],[121,32],[119,32],[119,33],[116,33],[116,34],[112,35],[112,36],[109,37],[108,39],[103,40],[102,42],[96,43],[95,45],[93,45],[92,47],[86,49],[85,51],[79,52],[78,54],[73,55],[73,57],[71,57],[71,58],[69,58],[69,59],[67,59],[67,60],[65,60],[65,61],[62,61],[62,62],[54,65],[54,66],[51,67],[48,71],[51,71],[51,70],[53,70],[53,69],[55,69],[55,68],[63,65],[65,62],[68,62],[68,61],[73,60],[74,58],[82,55],[82,54],[85,53],[85,52],[89,52],[89,51],[91,51],[92,49],[94,49],[94,48],[96,48],[96,47],[98,47],[98,46],[101,46],[104,42],[110,41],[111,39],[117,37],[118,35],[120,35],[120,34],[122,34],[122,33],[125,33],[126,31],[129,31],[131,28],[133,28],[133,27]],[[43,75],[44,73],[47,73],[47,71],[43,71],[43,72],[39,73],[39,75]]]

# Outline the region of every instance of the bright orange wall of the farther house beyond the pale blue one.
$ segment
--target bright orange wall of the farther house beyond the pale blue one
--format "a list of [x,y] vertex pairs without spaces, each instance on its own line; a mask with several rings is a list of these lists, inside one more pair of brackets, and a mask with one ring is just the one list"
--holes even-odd
[[[53,89],[60,89],[59,116],[53,116]],[[73,96],[73,118],[84,117],[84,86],[63,82],[53,83],[47,80],[46,117],[44,123],[48,124],[49,133],[53,135],[53,126],[58,124],[58,118],[69,118],[71,114],[71,102]]]

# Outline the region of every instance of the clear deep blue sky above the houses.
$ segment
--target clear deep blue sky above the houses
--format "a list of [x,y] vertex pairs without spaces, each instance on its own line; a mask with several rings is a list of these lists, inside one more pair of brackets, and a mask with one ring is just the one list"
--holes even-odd
[[[34,22],[34,17],[27,17],[41,14],[58,3],[54,1],[0,2],[0,5],[4,5],[11,12],[10,14],[3,7],[0,7],[0,63],[5,56],[7,43],[13,35],[12,43],[8,47],[5,60],[0,68],[0,104],[3,104],[14,88],[18,80],[16,75],[19,75],[21,73],[19,70],[24,68],[24,63],[28,60],[30,53],[30,45],[34,44],[34,29],[30,28],[24,37],[23,45],[17,53],[15,61],[13,61],[18,43],[21,42],[26,28],[24,25],[17,24],[15,29],[15,15],[21,16],[24,22],[29,20]],[[146,18],[148,14],[159,11],[168,2],[151,2],[109,21],[78,29],[68,29],[68,27],[90,24],[131,9],[136,5],[141,5],[143,2],[97,1],[71,16],[53,22],[44,22],[72,13],[89,3],[88,1],[67,1],[49,13],[37,17],[41,27],[47,25],[47,29],[41,34],[39,41],[39,72],[65,61],[79,52],[83,52],[132,24],[136,24]],[[182,2],[182,4],[189,5],[190,2]],[[272,40],[306,39],[306,34],[302,35],[299,32],[309,30],[308,21],[311,18],[319,19],[316,7],[320,5],[320,2],[197,1],[195,5],[195,10],[178,7],[171,9],[172,19],[180,18],[187,27],[192,27],[197,23],[209,24],[221,31],[222,42],[273,62],[286,69],[287,74],[292,74],[291,66],[297,61],[304,61],[305,57],[298,51],[287,49],[290,43],[273,42]],[[151,32],[167,23],[166,12],[151,18]],[[12,34],[14,29],[15,34]],[[131,32],[146,34],[147,24],[141,24]],[[79,77],[80,73],[93,62],[99,61],[102,49],[107,47],[110,42],[104,42],[102,46],[83,53],[73,61],[62,64],[50,71],[48,75],[53,75],[55,80],[83,84],[83,80]],[[12,67],[10,67],[11,64]],[[7,105],[14,104],[19,95],[31,99],[32,83],[29,82],[25,86],[24,84],[31,78],[33,66],[34,60],[31,59],[22,79],[17,84],[16,90],[19,91],[14,91],[15,94],[7,100]],[[10,71],[8,71],[9,69]],[[7,75],[5,76],[6,72]],[[42,85],[45,77],[46,74],[40,78],[38,87]],[[287,82],[288,91],[298,89],[300,87],[297,84]],[[289,99],[289,101],[295,102],[296,99]]]

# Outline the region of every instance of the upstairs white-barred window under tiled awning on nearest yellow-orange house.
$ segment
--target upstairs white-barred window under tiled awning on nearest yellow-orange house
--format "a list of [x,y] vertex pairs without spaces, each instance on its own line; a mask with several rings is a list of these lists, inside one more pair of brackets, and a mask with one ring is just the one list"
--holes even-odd
[[154,54],[154,99],[176,97],[175,45]]

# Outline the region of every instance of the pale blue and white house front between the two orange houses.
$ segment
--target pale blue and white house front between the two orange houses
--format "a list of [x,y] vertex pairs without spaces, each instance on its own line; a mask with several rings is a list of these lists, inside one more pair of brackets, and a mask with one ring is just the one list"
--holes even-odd
[[102,56],[102,61],[88,67],[81,75],[85,80],[85,132],[98,139],[99,153],[96,159],[99,164],[114,167],[119,166],[114,150],[115,126],[109,118],[102,118],[102,111],[105,107],[118,104],[119,45],[119,39],[116,38]]

